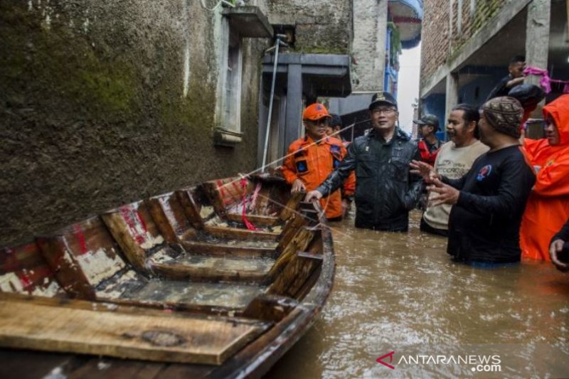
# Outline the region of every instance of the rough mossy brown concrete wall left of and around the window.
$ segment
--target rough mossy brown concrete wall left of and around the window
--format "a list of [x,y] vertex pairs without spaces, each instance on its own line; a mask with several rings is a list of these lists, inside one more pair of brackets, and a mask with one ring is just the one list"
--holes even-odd
[[193,0],[0,2],[0,246],[255,168],[260,57],[241,128],[213,145],[220,12]]

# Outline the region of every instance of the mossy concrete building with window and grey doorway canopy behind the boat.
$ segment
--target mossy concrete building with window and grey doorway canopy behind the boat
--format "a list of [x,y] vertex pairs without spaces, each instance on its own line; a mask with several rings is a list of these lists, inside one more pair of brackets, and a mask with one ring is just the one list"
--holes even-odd
[[1,1],[0,246],[256,169],[276,33],[282,154],[303,103],[351,92],[354,3]]

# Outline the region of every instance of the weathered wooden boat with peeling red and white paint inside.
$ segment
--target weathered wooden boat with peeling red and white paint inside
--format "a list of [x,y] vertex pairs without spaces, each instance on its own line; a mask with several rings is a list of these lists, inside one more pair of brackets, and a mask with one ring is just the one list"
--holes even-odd
[[4,248],[0,347],[265,373],[334,279],[321,209],[289,191],[274,176],[208,181]]

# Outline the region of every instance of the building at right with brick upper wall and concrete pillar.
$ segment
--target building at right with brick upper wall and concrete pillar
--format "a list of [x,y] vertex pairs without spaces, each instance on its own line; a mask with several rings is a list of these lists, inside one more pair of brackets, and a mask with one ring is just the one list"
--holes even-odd
[[[548,70],[551,78],[569,80],[567,20],[565,0],[426,0],[422,114],[446,119],[460,102],[482,105],[514,55],[525,55],[527,66]],[[562,91],[553,85],[548,100]]]

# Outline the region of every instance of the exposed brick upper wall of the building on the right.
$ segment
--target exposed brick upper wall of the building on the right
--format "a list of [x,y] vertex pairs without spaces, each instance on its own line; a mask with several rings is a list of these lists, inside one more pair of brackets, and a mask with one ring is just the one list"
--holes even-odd
[[456,55],[469,38],[511,1],[514,0],[425,0],[421,82]]

